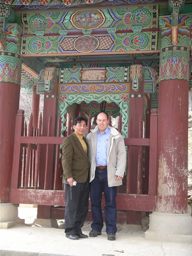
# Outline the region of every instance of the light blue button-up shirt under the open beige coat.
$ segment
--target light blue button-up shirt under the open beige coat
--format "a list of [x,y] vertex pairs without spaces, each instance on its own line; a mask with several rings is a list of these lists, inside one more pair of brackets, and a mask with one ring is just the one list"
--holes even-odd
[[107,127],[103,134],[97,130],[97,143],[96,143],[96,166],[108,165],[107,151],[108,151],[108,137],[110,129]]

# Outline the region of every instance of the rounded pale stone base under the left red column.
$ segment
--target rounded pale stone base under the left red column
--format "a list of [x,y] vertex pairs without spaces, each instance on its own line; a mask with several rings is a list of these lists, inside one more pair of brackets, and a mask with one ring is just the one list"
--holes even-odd
[[18,207],[11,203],[0,203],[0,229],[9,229],[17,223],[24,223],[18,218]]

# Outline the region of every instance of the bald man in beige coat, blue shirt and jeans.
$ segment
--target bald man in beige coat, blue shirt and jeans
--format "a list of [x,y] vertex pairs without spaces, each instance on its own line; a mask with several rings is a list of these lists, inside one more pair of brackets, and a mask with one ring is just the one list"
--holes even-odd
[[96,237],[103,228],[101,209],[102,193],[104,192],[106,205],[106,232],[108,240],[115,240],[117,232],[117,186],[122,184],[125,172],[126,151],[122,135],[108,126],[108,115],[101,112],[96,118],[97,126],[87,135],[89,145],[90,195],[93,223],[89,236]]

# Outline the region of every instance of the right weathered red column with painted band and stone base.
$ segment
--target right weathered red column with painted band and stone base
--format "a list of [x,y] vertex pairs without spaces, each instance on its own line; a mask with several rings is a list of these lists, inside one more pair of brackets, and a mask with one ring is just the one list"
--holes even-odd
[[[164,35],[171,35],[171,29],[165,29],[162,38]],[[182,29],[180,37],[184,35],[187,37],[188,31]],[[157,200],[147,237],[171,241],[179,235],[187,235],[185,241],[192,239],[187,206],[189,53],[179,42],[160,51]]]

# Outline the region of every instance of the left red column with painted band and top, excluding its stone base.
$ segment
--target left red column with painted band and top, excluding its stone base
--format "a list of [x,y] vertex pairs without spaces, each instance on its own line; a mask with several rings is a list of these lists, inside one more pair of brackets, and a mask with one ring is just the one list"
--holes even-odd
[[[7,9],[10,7],[7,6]],[[2,10],[4,10],[3,4],[0,6],[0,11]],[[6,12],[4,18],[0,19],[0,203],[9,202],[14,130],[16,114],[19,109],[22,67],[22,58],[18,55],[21,30],[17,24],[6,24],[6,19],[9,18],[12,10],[7,14]],[[12,38],[11,48],[14,52],[6,48],[5,27],[6,33]]]

